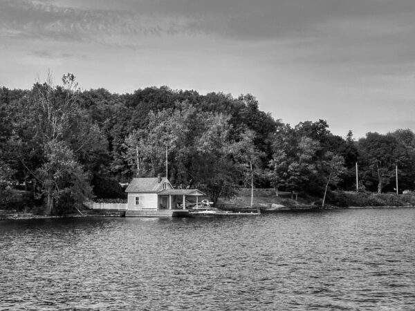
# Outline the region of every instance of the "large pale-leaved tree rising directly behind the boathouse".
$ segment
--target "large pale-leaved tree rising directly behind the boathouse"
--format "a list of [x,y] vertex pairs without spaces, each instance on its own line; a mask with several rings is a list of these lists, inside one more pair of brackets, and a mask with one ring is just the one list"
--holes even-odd
[[204,112],[188,102],[176,108],[149,113],[146,129],[136,129],[124,140],[124,160],[139,176],[166,171],[177,187],[198,187],[216,204],[232,193],[234,169],[230,167],[229,117]]

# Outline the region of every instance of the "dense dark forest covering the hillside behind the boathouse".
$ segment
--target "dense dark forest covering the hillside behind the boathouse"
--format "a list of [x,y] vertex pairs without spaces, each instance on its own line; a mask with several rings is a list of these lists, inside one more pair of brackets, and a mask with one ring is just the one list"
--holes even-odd
[[87,198],[123,198],[120,183],[165,175],[166,151],[172,184],[199,188],[214,202],[240,187],[320,197],[356,190],[356,162],[359,191],[395,191],[396,166],[399,189],[414,188],[413,131],[344,135],[325,120],[284,124],[250,94],[82,91],[71,73],[59,85],[48,77],[30,90],[3,86],[0,205],[16,190],[46,214]]

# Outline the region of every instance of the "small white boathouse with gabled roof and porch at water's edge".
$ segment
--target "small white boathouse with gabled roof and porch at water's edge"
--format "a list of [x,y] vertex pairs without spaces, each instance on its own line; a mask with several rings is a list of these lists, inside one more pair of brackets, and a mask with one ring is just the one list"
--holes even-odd
[[[125,190],[128,194],[125,216],[186,216],[187,207],[199,205],[199,197],[205,196],[198,189],[174,189],[169,180],[133,178]],[[190,202],[192,201],[192,202]]]

